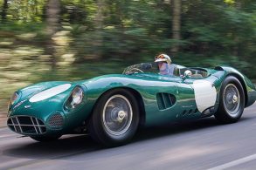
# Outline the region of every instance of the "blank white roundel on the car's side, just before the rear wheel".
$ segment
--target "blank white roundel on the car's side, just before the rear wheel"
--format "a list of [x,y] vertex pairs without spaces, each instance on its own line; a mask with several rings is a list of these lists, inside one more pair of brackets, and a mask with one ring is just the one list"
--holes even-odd
[[214,106],[217,98],[217,91],[211,82],[206,80],[196,80],[193,83],[197,109],[204,112],[205,109]]

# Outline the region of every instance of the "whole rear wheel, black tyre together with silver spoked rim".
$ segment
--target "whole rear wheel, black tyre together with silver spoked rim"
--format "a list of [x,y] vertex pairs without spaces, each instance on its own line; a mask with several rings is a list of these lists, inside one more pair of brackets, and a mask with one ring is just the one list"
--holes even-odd
[[219,92],[218,111],[215,118],[224,124],[237,122],[245,108],[245,92],[238,78],[225,78]]

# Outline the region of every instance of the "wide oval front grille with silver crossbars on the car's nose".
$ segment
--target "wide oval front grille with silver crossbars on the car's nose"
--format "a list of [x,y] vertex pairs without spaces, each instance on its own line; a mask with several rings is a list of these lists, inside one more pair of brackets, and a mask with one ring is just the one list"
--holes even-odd
[[7,120],[7,126],[16,133],[21,134],[43,134],[46,132],[42,120],[31,116],[13,116]]

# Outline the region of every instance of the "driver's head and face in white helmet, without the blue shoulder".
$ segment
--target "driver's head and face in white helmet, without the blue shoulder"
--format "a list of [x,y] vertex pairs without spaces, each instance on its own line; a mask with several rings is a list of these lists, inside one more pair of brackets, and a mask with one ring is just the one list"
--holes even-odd
[[156,56],[155,62],[158,65],[160,74],[166,75],[168,74],[168,65],[171,64],[171,59],[168,55],[166,54],[160,54]]

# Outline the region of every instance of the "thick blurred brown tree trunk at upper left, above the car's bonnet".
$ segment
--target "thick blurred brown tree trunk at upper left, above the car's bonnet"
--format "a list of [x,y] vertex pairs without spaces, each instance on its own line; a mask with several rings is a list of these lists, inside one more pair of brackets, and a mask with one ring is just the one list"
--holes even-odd
[[48,0],[46,4],[46,33],[48,38],[45,53],[51,56],[52,70],[55,70],[57,65],[56,44],[53,41],[54,34],[59,31],[59,16],[60,1]]

